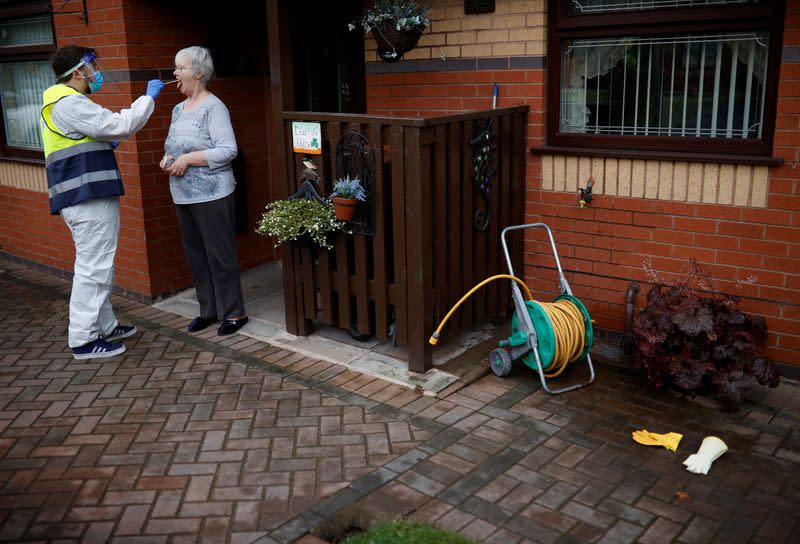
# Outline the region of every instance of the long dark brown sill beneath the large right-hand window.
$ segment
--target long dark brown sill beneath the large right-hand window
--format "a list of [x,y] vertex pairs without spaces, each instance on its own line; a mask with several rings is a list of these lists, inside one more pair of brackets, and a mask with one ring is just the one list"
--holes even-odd
[[723,164],[749,164],[755,166],[780,166],[782,157],[764,155],[736,154],[698,154],[681,153],[679,151],[643,151],[637,149],[600,149],[587,147],[561,147],[541,145],[530,148],[532,155],[583,155],[590,157],[612,157],[617,159],[668,160],[686,162],[713,162]]

